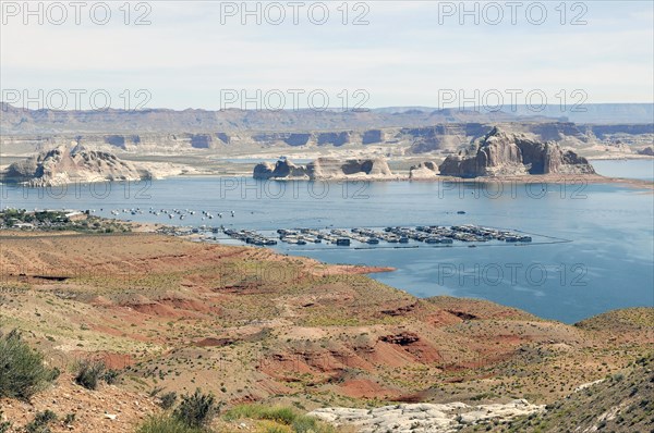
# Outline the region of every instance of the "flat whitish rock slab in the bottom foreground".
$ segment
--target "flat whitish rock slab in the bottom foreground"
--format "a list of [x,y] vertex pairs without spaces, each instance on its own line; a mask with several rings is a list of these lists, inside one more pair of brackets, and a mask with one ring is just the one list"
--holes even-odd
[[362,433],[453,433],[464,426],[491,421],[508,421],[514,417],[541,413],[545,406],[523,399],[506,405],[468,406],[463,403],[402,404],[375,409],[325,408],[308,415],[337,426],[356,425]]

